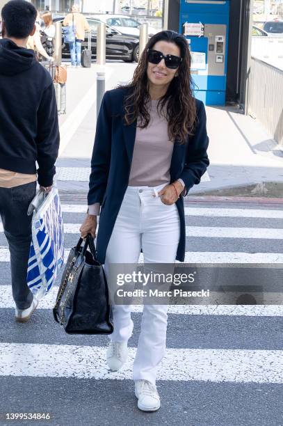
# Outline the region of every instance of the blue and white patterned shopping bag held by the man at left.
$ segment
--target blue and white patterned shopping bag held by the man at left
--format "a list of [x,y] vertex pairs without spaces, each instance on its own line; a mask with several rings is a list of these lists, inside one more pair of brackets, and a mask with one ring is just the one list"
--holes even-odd
[[29,206],[32,214],[32,242],[29,253],[27,283],[41,299],[54,284],[64,261],[64,231],[58,189],[45,195],[38,191]]

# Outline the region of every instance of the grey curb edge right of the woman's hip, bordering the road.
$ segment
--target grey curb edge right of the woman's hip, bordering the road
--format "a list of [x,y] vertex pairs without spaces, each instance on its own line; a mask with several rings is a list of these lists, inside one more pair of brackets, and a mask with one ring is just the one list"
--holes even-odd
[[258,182],[219,189],[193,191],[192,196],[242,196],[283,198],[283,182]]

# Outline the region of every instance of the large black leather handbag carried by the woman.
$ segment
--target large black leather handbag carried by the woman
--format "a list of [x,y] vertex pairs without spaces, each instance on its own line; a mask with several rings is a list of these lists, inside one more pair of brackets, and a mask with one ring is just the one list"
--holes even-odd
[[[53,308],[66,333],[111,334],[113,323],[108,286],[90,234],[70,251]],[[89,251],[88,251],[89,247]]]

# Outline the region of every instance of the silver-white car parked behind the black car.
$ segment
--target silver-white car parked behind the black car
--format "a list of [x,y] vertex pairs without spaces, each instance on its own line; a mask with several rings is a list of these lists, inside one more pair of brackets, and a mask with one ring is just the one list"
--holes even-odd
[[[129,36],[139,36],[140,35],[140,25],[142,24],[137,19],[134,19],[130,16],[124,15],[95,15],[102,22],[105,22],[107,25],[113,26],[113,28],[118,29],[121,33],[129,34]],[[154,36],[160,30],[156,30],[152,26],[148,26],[148,35],[149,37]]]

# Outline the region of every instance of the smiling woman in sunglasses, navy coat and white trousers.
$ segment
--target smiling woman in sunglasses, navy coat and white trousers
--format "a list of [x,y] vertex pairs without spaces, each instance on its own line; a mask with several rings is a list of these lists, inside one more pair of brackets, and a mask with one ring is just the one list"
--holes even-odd
[[[209,165],[204,104],[192,94],[186,38],[161,31],[150,38],[130,84],[105,93],[92,153],[84,237],[95,237],[108,276],[111,263],[184,261],[183,196]],[[112,305],[114,331],[107,363],[127,361],[131,308]],[[164,354],[167,305],[145,304],[136,358],[138,408],[160,407],[156,373]]]

